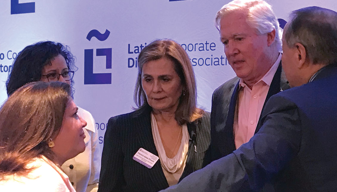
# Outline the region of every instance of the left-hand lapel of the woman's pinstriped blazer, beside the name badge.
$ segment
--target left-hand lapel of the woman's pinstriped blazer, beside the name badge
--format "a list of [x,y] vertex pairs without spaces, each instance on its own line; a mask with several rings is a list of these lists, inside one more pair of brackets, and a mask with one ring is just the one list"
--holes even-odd
[[[139,116],[139,121],[143,123],[139,125],[138,131],[138,142],[140,146],[143,146],[145,150],[151,152],[152,154],[158,156],[156,146],[154,145],[152,129],[151,129],[151,108],[145,109]],[[157,185],[158,189],[165,189],[168,187],[167,180],[165,178],[164,172],[161,168],[160,160],[158,160],[151,168],[150,179],[153,185]]]

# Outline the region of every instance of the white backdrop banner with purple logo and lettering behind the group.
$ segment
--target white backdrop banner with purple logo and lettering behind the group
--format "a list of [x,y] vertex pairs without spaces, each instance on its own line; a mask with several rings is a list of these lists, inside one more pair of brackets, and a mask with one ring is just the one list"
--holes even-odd
[[[229,0],[2,0],[0,2],[0,103],[13,59],[27,45],[51,40],[76,57],[77,105],[96,121],[103,143],[112,116],[132,111],[137,56],[151,41],[171,38],[188,53],[198,106],[211,110],[214,89],[235,76],[214,27]],[[305,6],[337,10],[335,0],[270,0],[279,19]],[[282,22],[281,22],[282,24]],[[284,24],[284,23],[283,23]]]

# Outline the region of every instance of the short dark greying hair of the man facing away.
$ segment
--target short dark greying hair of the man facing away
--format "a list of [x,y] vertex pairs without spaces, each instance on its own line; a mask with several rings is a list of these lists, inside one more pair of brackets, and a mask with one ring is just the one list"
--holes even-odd
[[313,64],[337,62],[337,12],[322,7],[305,7],[290,13],[284,38],[288,47],[301,43]]

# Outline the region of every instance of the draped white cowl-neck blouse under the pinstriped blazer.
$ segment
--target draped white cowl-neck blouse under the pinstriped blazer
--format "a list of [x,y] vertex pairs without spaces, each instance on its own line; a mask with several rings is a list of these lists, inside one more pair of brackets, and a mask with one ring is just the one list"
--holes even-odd
[[169,186],[176,185],[186,165],[188,141],[189,141],[187,125],[184,124],[182,126],[181,144],[177,152],[177,155],[172,159],[166,156],[164,146],[163,143],[161,142],[161,138],[159,135],[157,121],[152,113],[151,113],[151,128],[154,145],[156,146],[156,149],[158,151],[161,168],[163,169],[167,183]]

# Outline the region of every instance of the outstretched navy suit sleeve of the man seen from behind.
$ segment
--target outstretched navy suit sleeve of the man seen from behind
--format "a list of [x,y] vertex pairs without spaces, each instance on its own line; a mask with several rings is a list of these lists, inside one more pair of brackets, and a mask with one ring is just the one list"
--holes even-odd
[[297,106],[281,96],[266,105],[261,129],[232,154],[213,161],[164,191],[257,191],[298,153],[301,122]]

